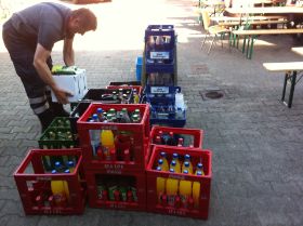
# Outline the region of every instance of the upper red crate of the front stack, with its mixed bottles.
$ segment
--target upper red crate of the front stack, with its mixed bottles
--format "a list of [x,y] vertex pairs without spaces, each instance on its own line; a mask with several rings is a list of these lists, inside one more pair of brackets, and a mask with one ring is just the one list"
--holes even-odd
[[143,172],[149,151],[149,107],[146,104],[92,103],[77,121],[83,165],[88,170]]

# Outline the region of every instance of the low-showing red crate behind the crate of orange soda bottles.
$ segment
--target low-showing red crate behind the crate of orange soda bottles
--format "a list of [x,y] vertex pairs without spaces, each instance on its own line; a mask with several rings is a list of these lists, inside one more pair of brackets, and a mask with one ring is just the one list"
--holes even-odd
[[[172,139],[170,137],[172,133]],[[160,141],[159,141],[160,138]],[[197,129],[185,128],[170,128],[155,125],[150,131],[150,144],[152,145],[169,145],[177,146],[179,138],[183,139],[183,147],[196,147],[202,148],[203,131]],[[160,142],[160,143],[159,143]]]

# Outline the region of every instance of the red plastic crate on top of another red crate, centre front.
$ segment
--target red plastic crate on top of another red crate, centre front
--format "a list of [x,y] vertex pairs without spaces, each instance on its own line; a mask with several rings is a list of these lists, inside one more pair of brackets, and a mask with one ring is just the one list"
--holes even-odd
[[[140,110],[139,123],[90,122],[97,108],[108,111],[115,108],[120,111],[127,108],[133,112]],[[118,165],[123,170],[144,171],[148,159],[149,145],[149,108],[144,104],[97,104],[92,103],[77,121],[80,145],[83,149],[85,169],[105,169],[105,165]],[[104,152],[100,141],[100,131],[110,130],[115,137],[114,152]],[[96,135],[95,135],[96,133]],[[94,135],[92,135],[94,134]],[[96,141],[91,137],[96,137]]]

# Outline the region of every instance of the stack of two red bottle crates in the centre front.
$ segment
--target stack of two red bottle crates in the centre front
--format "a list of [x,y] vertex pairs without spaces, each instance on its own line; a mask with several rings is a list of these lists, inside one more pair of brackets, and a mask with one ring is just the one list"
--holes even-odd
[[[97,108],[129,112],[140,109],[137,123],[92,122]],[[92,208],[144,211],[146,209],[146,175],[149,145],[148,105],[92,103],[77,121],[83,168],[87,178],[89,204]],[[91,134],[110,130],[115,134],[115,150],[109,156],[96,155]],[[95,143],[94,143],[95,144]],[[98,147],[100,148],[100,147]],[[98,149],[100,150],[100,149]],[[102,150],[101,150],[102,151]],[[98,154],[98,152],[97,152]]]

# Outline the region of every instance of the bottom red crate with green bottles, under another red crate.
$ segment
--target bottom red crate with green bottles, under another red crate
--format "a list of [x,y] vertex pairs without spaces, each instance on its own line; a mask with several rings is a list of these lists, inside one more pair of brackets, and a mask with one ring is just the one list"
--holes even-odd
[[87,170],[85,178],[91,208],[146,210],[145,172],[107,174],[104,170]]

